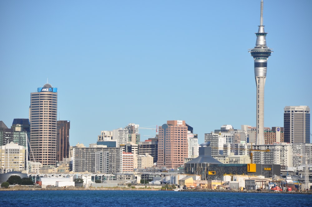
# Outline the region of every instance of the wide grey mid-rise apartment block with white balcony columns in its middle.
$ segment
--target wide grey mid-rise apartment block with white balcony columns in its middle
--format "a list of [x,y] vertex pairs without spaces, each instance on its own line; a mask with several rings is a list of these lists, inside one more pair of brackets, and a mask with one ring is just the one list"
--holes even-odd
[[121,173],[122,148],[93,145],[73,147],[73,172]]

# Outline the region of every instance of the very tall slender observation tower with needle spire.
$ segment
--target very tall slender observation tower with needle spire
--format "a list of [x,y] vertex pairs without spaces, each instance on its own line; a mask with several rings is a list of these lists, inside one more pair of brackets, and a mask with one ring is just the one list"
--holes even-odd
[[261,0],[260,26],[256,33],[256,46],[250,49],[254,59],[256,79],[256,144],[264,144],[264,85],[266,83],[267,60],[271,56],[271,49],[266,46],[266,32],[263,25],[263,1]]

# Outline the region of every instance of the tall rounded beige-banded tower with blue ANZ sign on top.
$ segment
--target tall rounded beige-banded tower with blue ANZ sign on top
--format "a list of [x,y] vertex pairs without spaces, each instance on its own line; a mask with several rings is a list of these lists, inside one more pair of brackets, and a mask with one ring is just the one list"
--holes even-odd
[[45,84],[30,94],[30,160],[56,164],[57,88]]

